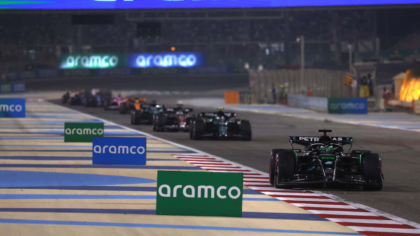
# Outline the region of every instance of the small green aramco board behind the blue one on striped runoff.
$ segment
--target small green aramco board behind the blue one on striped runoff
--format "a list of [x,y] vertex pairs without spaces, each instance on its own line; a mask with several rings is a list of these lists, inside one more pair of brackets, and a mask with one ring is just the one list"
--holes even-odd
[[104,123],[64,123],[64,142],[91,143],[93,137],[104,136]]

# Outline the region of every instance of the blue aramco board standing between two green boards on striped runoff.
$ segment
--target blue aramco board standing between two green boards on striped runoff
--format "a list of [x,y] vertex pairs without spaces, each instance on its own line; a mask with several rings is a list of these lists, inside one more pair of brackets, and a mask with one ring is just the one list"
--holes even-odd
[[146,138],[94,137],[92,164],[146,165]]

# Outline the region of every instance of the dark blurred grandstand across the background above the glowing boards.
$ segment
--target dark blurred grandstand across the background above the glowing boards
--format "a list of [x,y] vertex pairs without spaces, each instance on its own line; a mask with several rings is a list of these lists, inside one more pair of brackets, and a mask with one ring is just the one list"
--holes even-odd
[[[0,16],[0,60],[52,61],[68,52],[167,52],[175,47],[207,52],[210,65],[248,62],[251,68],[279,68],[299,64],[295,39],[304,35],[307,66],[337,66],[346,64],[346,44],[375,39],[374,12],[160,10],[114,13],[113,24],[72,24],[71,12],[7,13]],[[160,34],[139,37],[139,22],[160,22]]]

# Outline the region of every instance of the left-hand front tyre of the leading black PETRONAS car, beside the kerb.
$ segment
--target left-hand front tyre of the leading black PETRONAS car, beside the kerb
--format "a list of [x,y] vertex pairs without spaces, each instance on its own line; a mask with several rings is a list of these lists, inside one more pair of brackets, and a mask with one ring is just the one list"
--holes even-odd
[[276,175],[274,187],[276,189],[293,189],[292,184],[282,185],[286,180],[294,176],[296,155],[291,152],[281,152],[276,155]]

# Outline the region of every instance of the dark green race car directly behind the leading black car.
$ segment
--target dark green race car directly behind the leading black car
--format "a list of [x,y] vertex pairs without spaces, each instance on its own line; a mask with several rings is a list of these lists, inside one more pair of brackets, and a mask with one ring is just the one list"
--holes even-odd
[[223,112],[202,112],[192,119],[189,126],[190,139],[211,138],[240,138],[252,139],[251,123],[247,120],[236,119],[236,114]]

